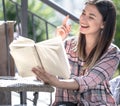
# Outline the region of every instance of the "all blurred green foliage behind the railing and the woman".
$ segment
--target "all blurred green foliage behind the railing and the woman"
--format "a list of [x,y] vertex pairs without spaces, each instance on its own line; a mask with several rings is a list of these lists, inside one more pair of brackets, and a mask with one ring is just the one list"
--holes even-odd
[[[16,1],[18,4],[21,4],[21,0],[13,0]],[[120,47],[120,2],[119,0],[114,0],[113,1],[115,3],[116,6],[116,10],[117,10],[117,27],[116,27],[116,36],[115,36],[115,41],[114,43],[117,44]],[[6,8],[6,16],[7,16],[7,20],[17,20],[17,22],[19,23],[19,19],[16,16],[16,7],[13,3],[11,3],[9,0],[5,0],[5,6]],[[53,24],[55,24],[56,26],[61,24],[61,21],[58,20],[58,17],[55,13],[55,10],[53,10],[52,8],[50,8],[49,6],[43,4],[42,2],[40,2],[39,0],[28,0],[28,10],[35,13],[36,15],[42,17],[43,19],[46,19],[48,22],[51,22]],[[20,7],[18,8],[18,15],[20,16]],[[31,14],[28,14],[28,35],[30,38],[33,38],[33,32],[32,32],[32,16]],[[0,1],[0,20],[3,20],[3,6],[2,6],[2,0]],[[77,34],[77,32],[79,32],[79,26],[78,24],[75,24],[74,22],[72,22],[72,34]],[[35,18],[35,22],[34,22],[34,27],[35,27],[35,33],[37,35],[37,41],[46,39],[46,35],[45,35],[45,23],[43,21],[40,21],[38,18]],[[50,28],[49,31],[51,33],[51,37],[54,34],[54,28]]]

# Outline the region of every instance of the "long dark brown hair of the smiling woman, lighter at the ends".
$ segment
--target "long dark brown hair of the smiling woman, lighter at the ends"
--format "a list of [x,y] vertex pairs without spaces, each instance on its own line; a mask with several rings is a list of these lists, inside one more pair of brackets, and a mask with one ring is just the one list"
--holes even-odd
[[89,0],[86,4],[95,5],[103,17],[104,29],[97,39],[97,44],[94,46],[89,56],[86,55],[86,38],[84,34],[79,34],[78,54],[85,61],[84,68],[91,68],[97,60],[107,51],[110,46],[116,29],[116,9],[110,0]]

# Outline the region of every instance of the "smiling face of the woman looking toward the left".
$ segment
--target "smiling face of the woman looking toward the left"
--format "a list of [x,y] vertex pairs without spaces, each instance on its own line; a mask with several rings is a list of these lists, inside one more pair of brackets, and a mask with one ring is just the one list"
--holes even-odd
[[96,6],[87,4],[80,16],[80,32],[98,36],[103,27],[102,15]]

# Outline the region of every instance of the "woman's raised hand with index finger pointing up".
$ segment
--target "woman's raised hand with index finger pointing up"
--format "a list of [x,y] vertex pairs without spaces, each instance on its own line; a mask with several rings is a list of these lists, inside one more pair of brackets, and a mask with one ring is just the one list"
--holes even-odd
[[71,31],[71,25],[67,23],[68,19],[69,19],[69,15],[66,16],[66,18],[63,20],[62,25],[57,27],[56,30],[56,35],[61,36],[62,40],[64,40]]

